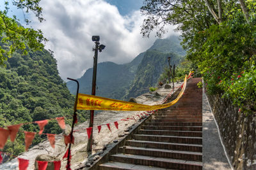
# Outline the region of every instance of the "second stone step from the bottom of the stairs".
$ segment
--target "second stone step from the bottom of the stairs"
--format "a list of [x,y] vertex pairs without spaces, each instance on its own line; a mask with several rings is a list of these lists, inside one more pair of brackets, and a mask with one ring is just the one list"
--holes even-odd
[[110,160],[115,162],[122,162],[128,164],[136,164],[143,166],[156,166],[167,169],[202,169],[202,162],[179,160],[179,159],[166,159],[157,157],[147,157],[142,155],[129,155],[117,153],[110,155]]

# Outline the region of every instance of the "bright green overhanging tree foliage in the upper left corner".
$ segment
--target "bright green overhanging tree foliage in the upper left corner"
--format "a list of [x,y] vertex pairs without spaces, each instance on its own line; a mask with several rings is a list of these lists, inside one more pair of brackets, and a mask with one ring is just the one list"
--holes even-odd
[[[40,0],[4,1],[4,10],[0,11],[0,41],[4,43],[4,46],[0,46],[0,65],[4,65],[4,61],[17,50],[27,54],[26,46],[32,50],[42,50],[44,48],[42,43],[47,41],[40,29],[23,27],[15,15],[9,17],[9,3],[17,6],[17,10],[22,10],[24,13],[34,13],[39,22],[44,20],[42,8],[39,6]],[[25,22],[28,26],[30,20],[25,18]]]

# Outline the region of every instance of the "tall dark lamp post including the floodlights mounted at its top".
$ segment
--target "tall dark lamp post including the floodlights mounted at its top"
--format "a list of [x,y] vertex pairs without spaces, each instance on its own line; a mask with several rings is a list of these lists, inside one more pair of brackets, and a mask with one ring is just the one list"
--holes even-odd
[[[92,95],[95,96],[95,94],[96,94],[96,76],[97,76],[98,50],[99,50],[99,52],[102,52],[102,50],[105,48],[105,45],[100,45],[100,43],[99,43],[100,36],[92,36],[92,41],[95,41],[95,48],[93,48],[94,57],[93,57],[93,76],[92,76]],[[93,118],[94,118],[94,110],[90,110],[89,127],[93,127]],[[92,134],[93,134],[93,129],[92,129]],[[90,139],[88,139],[87,152],[92,152],[92,135],[90,136]]]

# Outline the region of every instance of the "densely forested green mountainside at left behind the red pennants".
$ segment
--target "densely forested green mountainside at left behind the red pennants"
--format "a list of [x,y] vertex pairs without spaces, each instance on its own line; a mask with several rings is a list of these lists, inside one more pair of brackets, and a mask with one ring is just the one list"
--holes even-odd
[[[5,64],[6,67],[0,67],[1,127],[63,116],[66,122],[70,122],[74,96],[58,75],[52,53],[47,50],[28,50],[28,55],[13,53]],[[79,114],[80,121],[84,121],[85,117],[86,114]],[[38,132],[38,129],[36,124],[22,125],[15,143],[8,141],[4,152],[14,155],[24,152],[23,131]],[[58,134],[61,129],[53,119],[45,126],[44,132]],[[33,145],[44,138],[45,135],[36,135]]]

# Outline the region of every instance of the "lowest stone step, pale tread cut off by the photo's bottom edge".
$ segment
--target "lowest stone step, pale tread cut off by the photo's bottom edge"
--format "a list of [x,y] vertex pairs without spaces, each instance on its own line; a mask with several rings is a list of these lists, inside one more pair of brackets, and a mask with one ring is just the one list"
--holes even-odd
[[166,168],[125,164],[121,162],[106,162],[99,165],[99,170],[167,170]]

